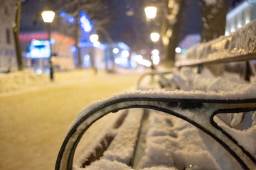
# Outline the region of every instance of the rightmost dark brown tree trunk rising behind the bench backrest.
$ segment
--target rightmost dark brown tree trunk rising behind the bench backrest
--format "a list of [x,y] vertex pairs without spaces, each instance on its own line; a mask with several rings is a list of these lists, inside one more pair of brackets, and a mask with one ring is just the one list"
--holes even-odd
[[205,0],[200,1],[202,13],[201,42],[208,42],[225,34],[228,1],[215,1],[215,4],[208,4]]

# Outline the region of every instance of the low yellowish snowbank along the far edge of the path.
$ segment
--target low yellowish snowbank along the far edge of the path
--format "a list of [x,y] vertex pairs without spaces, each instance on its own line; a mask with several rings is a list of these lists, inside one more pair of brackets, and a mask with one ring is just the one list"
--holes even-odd
[[[121,72],[122,74],[138,74],[137,72]],[[92,70],[74,70],[73,72],[55,72],[54,81],[46,73],[36,74],[33,69],[24,69],[22,72],[0,74],[0,96],[21,94],[26,91],[38,90],[46,87],[59,87],[78,82],[93,81],[93,79],[107,79],[105,72],[99,70],[97,77]],[[110,74],[109,74],[110,75]]]

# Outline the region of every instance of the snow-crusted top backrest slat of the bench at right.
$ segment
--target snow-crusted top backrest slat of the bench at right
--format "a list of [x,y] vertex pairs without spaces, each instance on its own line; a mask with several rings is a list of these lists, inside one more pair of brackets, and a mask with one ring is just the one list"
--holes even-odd
[[[200,64],[215,60],[256,59],[256,21],[251,21],[228,36],[194,45],[186,55],[178,57],[176,66]],[[237,58],[235,58],[237,57]]]

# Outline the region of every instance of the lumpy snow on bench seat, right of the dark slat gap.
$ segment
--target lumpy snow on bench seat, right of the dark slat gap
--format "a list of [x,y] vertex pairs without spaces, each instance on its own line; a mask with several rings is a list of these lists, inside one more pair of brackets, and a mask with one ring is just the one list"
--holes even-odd
[[220,169],[193,125],[168,114],[152,112],[148,126],[143,168]]

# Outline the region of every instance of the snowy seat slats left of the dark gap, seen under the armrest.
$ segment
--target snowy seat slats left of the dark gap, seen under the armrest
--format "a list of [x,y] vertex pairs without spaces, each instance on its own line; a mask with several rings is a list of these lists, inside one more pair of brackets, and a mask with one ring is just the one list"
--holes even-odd
[[85,150],[85,154],[80,157],[80,161],[73,169],[80,169],[80,167],[94,169],[93,164],[97,165],[97,160],[102,159],[130,165],[143,112],[142,109],[131,109],[123,112],[118,119],[112,120],[112,123],[106,126],[90,149]]

